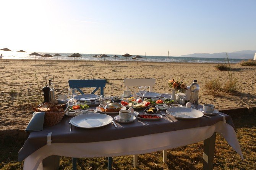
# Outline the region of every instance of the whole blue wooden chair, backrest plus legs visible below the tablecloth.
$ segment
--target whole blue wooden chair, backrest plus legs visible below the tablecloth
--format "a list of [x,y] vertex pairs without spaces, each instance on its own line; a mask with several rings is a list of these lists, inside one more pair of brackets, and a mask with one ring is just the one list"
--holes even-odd
[[[81,94],[84,94],[80,88],[95,87],[91,92],[94,94],[100,88],[100,95],[104,95],[104,87],[107,81],[105,79],[87,79],[87,80],[68,80],[69,87],[75,87]],[[72,168],[76,170],[76,158],[72,158]],[[112,169],[112,157],[108,157],[108,169]]]

